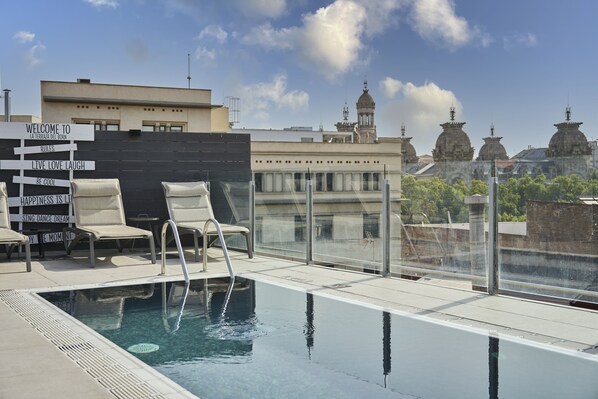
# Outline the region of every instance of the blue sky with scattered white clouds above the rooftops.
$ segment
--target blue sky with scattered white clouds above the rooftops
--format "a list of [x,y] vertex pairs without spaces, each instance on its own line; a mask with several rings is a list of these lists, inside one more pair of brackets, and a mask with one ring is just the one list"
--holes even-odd
[[[565,119],[598,139],[595,0],[0,0],[2,88],[40,115],[40,81],[212,89],[236,127],[342,120],[367,79],[379,136],[404,123],[418,154],[449,120],[473,147],[494,124],[510,156]],[[3,108],[1,109],[3,111]]]

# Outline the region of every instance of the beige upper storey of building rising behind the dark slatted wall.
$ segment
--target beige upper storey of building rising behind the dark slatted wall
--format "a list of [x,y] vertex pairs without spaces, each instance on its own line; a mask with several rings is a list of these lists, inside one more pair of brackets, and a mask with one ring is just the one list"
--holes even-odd
[[[42,81],[42,120],[118,123],[120,130],[172,124],[186,132],[211,132],[212,111],[218,109],[211,96],[207,89]],[[218,132],[228,131],[217,115]]]

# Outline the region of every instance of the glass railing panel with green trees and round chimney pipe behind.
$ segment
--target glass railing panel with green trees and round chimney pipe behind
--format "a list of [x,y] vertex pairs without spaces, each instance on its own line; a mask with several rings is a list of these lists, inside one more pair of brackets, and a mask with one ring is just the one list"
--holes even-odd
[[[391,273],[466,289],[485,289],[489,164],[436,163],[405,174],[393,191]],[[427,173],[426,173],[427,172]]]

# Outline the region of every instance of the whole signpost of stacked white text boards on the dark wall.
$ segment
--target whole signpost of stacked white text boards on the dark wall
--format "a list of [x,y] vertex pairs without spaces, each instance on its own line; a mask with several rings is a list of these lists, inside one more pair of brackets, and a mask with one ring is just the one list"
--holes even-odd
[[[19,196],[8,198],[8,206],[18,207],[18,213],[11,213],[10,220],[19,223],[19,230],[23,223],[49,223],[71,224],[73,222],[70,180],[74,171],[95,170],[95,161],[75,160],[74,152],[77,150],[75,141],[93,141],[93,125],[78,125],[64,123],[21,123],[0,122],[0,140],[20,140],[20,145],[14,148],[14,154],[19,159],[0,159],[0,170],[16,170],[18,175],[12,177],[13,183],[19,184]],[[56,141],[54,144],[26,146],[27,140]],[[63,142],[63,143],[60,143]],[[64,143],[66,142],[66,143]],[[65,153],[67,159],[39,159],[44,154]],[[33,158],[25,159],[26,156]],[[38,157],[38,159],[35,159]],[[25,171],[32,176],[25,176]],[[38,171],[68,171],[68,179],[55,177],[35,176]],[[62,194],[25,195],[26,187],[63,187],[68,192]],[[60,215],[48,212],[24,213],[24,209],[33,206],[68,205],[68,214]],[[62,241],[62,226],[56,232],[44,234],[44,242]],[[37,243],[37,236],[30,237],[32,243]]]

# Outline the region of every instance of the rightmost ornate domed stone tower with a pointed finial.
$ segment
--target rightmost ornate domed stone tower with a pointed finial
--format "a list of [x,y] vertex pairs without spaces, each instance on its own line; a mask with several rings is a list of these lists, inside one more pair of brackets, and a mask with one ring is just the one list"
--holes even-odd
[[557,131],[550,139],[546,156],[552,158],[559,174],[585,176],[592,147],[579,127],[583,122],[571,122],[571,107],[565,108],[565,122],[555,123]]

